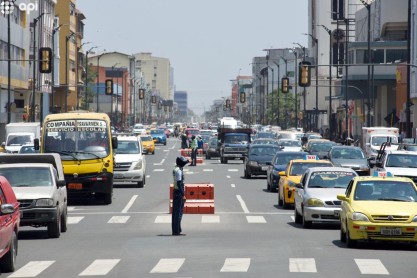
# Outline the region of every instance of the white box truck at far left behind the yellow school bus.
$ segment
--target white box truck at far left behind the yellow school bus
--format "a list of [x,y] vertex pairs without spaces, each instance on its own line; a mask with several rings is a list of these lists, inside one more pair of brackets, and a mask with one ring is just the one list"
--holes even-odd
[[23,145],[33,145],[41,134],[40,123],[10,123],[6,125],[6,152],[18,153]]

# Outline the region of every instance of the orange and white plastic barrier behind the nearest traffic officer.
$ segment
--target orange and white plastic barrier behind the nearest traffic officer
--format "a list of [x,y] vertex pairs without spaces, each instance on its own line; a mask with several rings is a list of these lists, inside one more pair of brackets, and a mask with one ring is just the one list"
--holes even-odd
[[[169,213],[172,213],[174,185],[170,185]],[[185,184],[185,214],[214,214],[214,185],[209,183]]]

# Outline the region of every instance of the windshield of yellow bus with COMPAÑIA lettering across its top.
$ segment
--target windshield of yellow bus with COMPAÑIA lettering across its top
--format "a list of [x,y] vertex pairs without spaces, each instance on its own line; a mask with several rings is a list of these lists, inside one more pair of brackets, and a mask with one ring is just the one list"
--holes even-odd
[[44,125],[46,153],[59,153],[62,160],[101,159],[110,154],[110,139],[103,120],[57,120]]

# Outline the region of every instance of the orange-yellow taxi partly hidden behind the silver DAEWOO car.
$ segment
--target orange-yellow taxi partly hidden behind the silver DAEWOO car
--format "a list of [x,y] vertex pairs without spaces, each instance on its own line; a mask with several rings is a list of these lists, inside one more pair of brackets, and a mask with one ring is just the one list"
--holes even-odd
[[289,208],[294,204],[295,185],[300,183],[301,176],[310,167],[329,167],[333,164],[328,160],[321,160],[316,155],[306,155],[304,159],[290,160],[285,171],[279,172],[278,206]]

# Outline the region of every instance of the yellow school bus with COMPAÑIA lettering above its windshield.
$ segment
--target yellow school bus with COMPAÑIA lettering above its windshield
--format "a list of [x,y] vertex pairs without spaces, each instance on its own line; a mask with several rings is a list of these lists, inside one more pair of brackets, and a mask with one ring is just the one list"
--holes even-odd
[[50,114],[35,149],[61,156],[68,198],[95,197],[111,204],[114,149],[110,118],[104,113],[72,111]]

